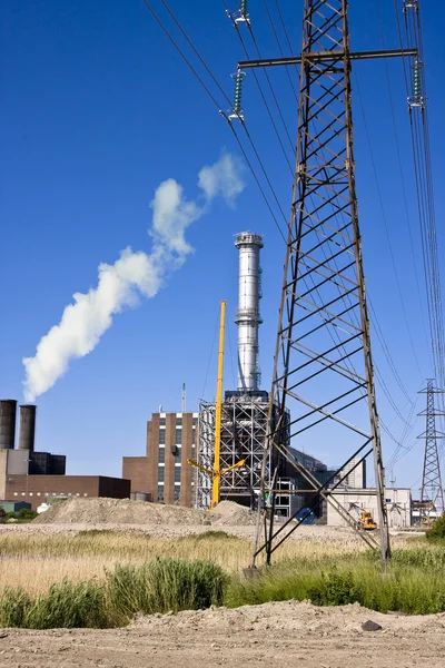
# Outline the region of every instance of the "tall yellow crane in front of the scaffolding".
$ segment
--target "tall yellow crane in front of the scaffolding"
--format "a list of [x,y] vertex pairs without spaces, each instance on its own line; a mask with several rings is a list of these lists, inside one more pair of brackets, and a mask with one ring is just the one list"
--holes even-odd
[[218,382],[216,392],[216,411],[215,411],[215,458],[214,468],[207,469],[202,464],[198,464],[191,459],[187,460],[187,463],[191,466],[196,466],[200,471],[211,475],[211,504],[210,510],[216,508],[219,503],[219,490],[221,487],[221,477],[226,475],[229,471],[238,466],[244,466],[246,460],[236,462],[227,469],[220,469],[220,456],[221,456],[221,414],[222,414],[222,372],[224,372],[224,334],[226,328],[226,302],[220,303],[219,312],[219,348],[218,348]]

